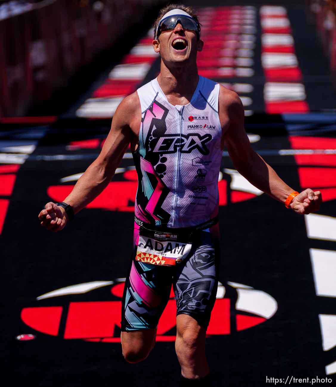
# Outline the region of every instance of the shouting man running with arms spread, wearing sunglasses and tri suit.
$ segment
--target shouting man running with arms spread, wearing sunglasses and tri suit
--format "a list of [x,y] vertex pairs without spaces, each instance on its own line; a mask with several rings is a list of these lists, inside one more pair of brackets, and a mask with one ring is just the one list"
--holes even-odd
[[60,231],[109,184],[129,144],[139,185],[134,256],[122,310],[122,353],[144,360],[173,284],[181,385],[210,385],[205,334],[217,292],[218,175],[224,142],[234,167],[298,214],[319,209],[319,191],[286,185],[250,146],[236,93],[198,75],[200,24],[190,7],[169,5],[155,23],[161,71],[126,97],[98,158],[63,203],[49,202],[41,225]]

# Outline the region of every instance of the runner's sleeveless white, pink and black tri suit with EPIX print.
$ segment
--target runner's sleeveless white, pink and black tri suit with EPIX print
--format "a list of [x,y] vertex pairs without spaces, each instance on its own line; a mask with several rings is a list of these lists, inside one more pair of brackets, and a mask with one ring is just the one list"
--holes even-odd
[[190,103],[172,105],[157,79],[140,87],[134,255],[122,330],[155,328],[173,285],[177,315],[207,327],[217,292],[219,84],[199,77]]

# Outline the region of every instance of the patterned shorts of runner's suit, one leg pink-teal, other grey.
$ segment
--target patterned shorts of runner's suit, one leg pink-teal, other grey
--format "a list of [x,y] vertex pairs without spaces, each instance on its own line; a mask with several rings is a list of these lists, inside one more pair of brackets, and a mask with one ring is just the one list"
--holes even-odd
[[[169,232],[171,232],[170,229]],[[155,328],[173,286],[176,315],[187,314],[207,328],[216,300],[219,259],[218,224],[193,235],[190,253],[174,266],[136,260],[139,226],[134,228],[134,253],[122,298],[122,331]]]

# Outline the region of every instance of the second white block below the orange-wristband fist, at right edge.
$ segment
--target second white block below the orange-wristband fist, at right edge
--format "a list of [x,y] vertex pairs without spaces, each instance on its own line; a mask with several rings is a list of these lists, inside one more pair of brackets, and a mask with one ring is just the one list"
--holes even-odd
[[336,297],[336,251],[310,248],[317,296]]

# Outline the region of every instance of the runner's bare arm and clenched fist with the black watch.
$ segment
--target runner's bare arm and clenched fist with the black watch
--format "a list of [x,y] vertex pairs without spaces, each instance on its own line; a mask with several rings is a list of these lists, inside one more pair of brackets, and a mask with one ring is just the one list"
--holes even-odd
[[[140,110],[140,101],[136,93],[126,97],[118,106],[109,135],[98,158],[83,173],[71,193],[64,199],[65,203],[72,206],[75,214],[95,199],[109,184],[129,143],[134,142],[136,133],[134,134],[132,128],[136,128],[136,125],[140,127]],[[39,218],[42,226],[52,231],[64,228],[67,221],[65,210],[51,202],[40,212]]]

